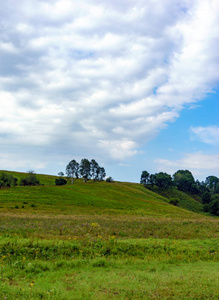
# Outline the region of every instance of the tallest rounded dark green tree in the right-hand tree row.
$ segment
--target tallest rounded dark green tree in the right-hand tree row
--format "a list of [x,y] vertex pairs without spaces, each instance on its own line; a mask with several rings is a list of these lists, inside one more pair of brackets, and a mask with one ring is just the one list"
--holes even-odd
[[195,184],[192,173],[188,170],[179,170],[173,175],[173,182],[178,190],[183,192],[192,192],[193,184]]

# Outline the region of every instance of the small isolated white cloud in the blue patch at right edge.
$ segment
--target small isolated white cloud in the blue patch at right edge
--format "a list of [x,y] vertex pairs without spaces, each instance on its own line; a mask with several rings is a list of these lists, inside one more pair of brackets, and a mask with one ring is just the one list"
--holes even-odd
[[218,145],[219,144],[219,127],[208,126],[208,127],[191,127],[191,139],[198,140],[200,142]]

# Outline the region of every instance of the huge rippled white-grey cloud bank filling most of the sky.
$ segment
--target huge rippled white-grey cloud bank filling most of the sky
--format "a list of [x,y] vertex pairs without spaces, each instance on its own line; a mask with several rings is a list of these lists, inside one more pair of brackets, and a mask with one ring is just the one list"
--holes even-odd
[[0,4],[6,145],[122,160],[219,80],[218,1]]

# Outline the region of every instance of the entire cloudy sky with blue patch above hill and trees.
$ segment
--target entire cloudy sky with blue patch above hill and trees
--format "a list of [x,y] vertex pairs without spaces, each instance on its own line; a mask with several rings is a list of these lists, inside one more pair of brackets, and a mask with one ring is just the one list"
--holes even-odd
[[0,169],[219,177],[218,0],[0,0]]

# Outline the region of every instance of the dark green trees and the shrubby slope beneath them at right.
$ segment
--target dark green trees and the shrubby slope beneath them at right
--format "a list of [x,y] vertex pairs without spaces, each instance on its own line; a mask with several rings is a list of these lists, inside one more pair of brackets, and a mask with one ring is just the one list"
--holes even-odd
[[188,170],[179,170],[173,177],[163,172],[150,175],[142,171],[140,183],[147,189],[171,198],[170,204],[219,215],[219,178],[216,176],[208,176],[205,182],[199,182]]

